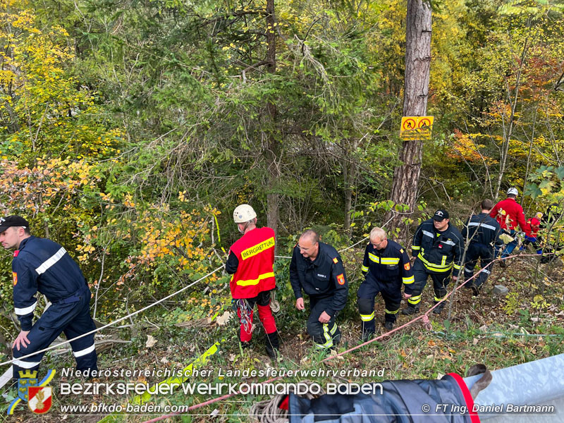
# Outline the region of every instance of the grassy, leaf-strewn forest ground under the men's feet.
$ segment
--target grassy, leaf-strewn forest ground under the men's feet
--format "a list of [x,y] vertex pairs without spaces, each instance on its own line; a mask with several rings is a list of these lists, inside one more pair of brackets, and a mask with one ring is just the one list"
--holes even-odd
[[[374,341],[368,345],[347,353],[341,357],[325,360],[326,355],[314,350],[305,331],[307,312],[298,312],[293,307],[293,294],[288,286],[278,291],[277,298],[281,311],[276,314],[278,331],[281,334],[281,353],[283,360],[273,363],[264,353],[264,331],[257,327],[252,341],[252,348],[240,350],[237,341],[238,321],[231,313],[231,319],[218,324],[217,319],[209,321],[199,319],[188,321],[178,326],[157,324],[157,317],[142,317],[133,326],[104,332],[98,339],[111,338],[131,341],[116,344],[99,354],[99,368],[105,371],[120,372],[121,369],[148,370],[183,369],[197,360],[204,351],[219,342],[219,350],[211,355],[205,364],[198,364],[195,369],[207,370],[206,376],[193,375],[186,382],[192,384],[242,384],[258,383],[271,379],[269,376],[229,376],[236,370],[293,369],[309,372],[319,369],[344,370],[345,376],[328,377],[306,376],[284,377],[277,383],[298,383],[307,379],[322,388],[335,382],[368,383],[386,379],[436,379],[450,372],[465,376],[472,364],[483,363],[491,369],[510,367],[551,355],[564,353],[564,267],[560,259],[551,264],[539,264],[539,257],[516,257],[506,269],[496,264],[486,286],[479,297],[472,297],[469,290],[461,288],[450,297],[448,305],[437,316],[430,313],[431,330],[421,321],[400,329],[391,336]],[[342,339],[338,352],[359,345],[360,319],[357,317],[354,298],[358,283],[350,281],[350,298],[347,307],[338,317]],[[493,293],[494,285],[502,284],[509,290],[505,297]],[[452,287],[451,287],[452,288]],[[424,289],[421,312],[432,306],[432,289]],[[450,320],[447,319],[452,306]],[[405,304],[402,304],[402,308]],[[228,307],[225,308],[226,310]],[[162,313],[162,310],[161,310]],[[398,324],[407,323],[416,316],[398,314]],[[376,336],[384,333],[384,302],[376,300]],[[255,324],[259,325],[257,317]],[[50,355],[42,364],[43,368],[72,368],[70,354]],[[354,376],[354,369],[374,370],[378,376]],[[135,378],[101,377],[87,381],[73,376],[63,377],[58,374],[51,386],[54,386],[54,405],[51,412],[39,417],[32,415],[21,406],[16,410],[11,422],[97,422],[106,412],[83,412],[86,415],[72,415],[61,412],[61,405],[112,405],[123,407],[133,396],[98,393],[97,395],[61,395],[59,387],[63,383],[84,385],[94,381],[99,384],[112,384],[118,381],[152,385],[165,377],[149,374]],[[10,391],[15,394],[15,387]],[[224,391],[222,394],[228,393]],[[179,389],[171,394],[153,396],[150,404],[160,405],[195,405],[207,400],[219,398],[221,394],[198,393],[185,394]],[[184,415],[173,417],[181,422],[253,422],[250,407],[269,396],[238,395],[221,400],[211,405],[198,408]],[[90,409],[91,410],[91,409]],[[164,410],[161,409],[161,410]],[[115,419],[106,417],[104,422],[145,422],[166,412],[122,412]],[[135,415],[137,414],[137,415]],[[5,411],[4,411],[5,415]]]

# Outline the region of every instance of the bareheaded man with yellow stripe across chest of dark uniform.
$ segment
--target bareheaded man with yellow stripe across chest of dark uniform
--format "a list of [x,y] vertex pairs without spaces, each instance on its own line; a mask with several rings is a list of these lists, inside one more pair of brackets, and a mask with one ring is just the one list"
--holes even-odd
[[396,323],[401,304],[401,286],[412,284],[415,279],[410,258],[403,247],[386,238],[382,228],[372,228],[370,242],[362,261],[364,282],[357,292],[357,305],[362,320],[362,341],[367,341],[375,331],[374,297],[378,293],[384,298],[384,327],[391,331]]

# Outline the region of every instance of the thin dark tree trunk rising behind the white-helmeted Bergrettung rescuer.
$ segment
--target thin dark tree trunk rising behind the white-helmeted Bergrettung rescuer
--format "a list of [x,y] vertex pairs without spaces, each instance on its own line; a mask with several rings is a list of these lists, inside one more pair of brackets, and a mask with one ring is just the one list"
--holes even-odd
[[[266,69],[269,73],[276,73],[276,30],[274,29],[274,0],[266,0]],[[276,104],[269,101],[266,104],[270,119],[270,130],[267,133],[266,166],[269,172],[268,188],[266,195],[266,223],[278,234],[278,204],[280,197],[276,192],[276,185],[280,178],[278,157],[280,156],[280,142],[276,133]]]

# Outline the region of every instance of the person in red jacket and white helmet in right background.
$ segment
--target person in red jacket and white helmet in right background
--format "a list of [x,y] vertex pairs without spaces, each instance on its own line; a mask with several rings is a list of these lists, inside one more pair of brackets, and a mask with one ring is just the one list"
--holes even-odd
[[[513,241],[505,245],[505,249],[501,253],[502,259],[508,257],[517,246],[517,239],[515,238],[515,228],[517,228],[517,225],[520,226],[523,232],[529,231],[529,225],[525,222],[523,208],[521,204],[515,201],[515,198],[517,198],[517,188],[509,188],[507,190],[507,198],[498,202],[489,213],[491,217],[498,221],[502,231],[513,237]],[[501,267],[506,266],[503,260],[499,262],[499,265]]]

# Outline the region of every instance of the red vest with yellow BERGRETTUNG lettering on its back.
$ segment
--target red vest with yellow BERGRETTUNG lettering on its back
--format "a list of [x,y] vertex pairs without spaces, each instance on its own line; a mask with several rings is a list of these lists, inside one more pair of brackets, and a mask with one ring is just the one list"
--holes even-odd
[[231,245],[231,252],[239,260],[237,271],[231,276],[233,298],[253,298],[262,291],[276,288],[272,228],[255,228],[245,233]]

